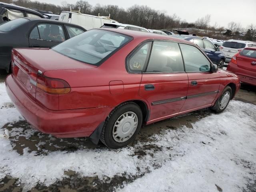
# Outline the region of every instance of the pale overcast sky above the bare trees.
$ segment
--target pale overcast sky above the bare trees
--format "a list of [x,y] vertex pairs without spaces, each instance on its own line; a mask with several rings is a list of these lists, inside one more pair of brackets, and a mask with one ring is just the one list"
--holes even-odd
[[[61,4],[64,0],[40,0],[52,4]],[[66,0],[75,3],[77,0]],[[165,10],[167,14],[176,13],[187,22],[194,22],[197,18],[211,14],[211,25],[218,22],[227,26],[228,22],[240,22],[243,27],[256,24],[256,0],[88,0],[93,6],[113,4],[128,8],[134,4],[147,5],[156,10]]]

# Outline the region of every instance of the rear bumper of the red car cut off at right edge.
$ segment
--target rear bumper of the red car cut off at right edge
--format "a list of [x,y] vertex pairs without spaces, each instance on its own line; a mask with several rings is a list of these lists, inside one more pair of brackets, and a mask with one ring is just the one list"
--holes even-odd
[[228,64],[227,71],[235,73],[237,76],[240,77],[240,82],[248,83],[251,85],[256,86],[256,72],[249,71],[246,69],[242,69],[238,67],[237,64],[230,62]]

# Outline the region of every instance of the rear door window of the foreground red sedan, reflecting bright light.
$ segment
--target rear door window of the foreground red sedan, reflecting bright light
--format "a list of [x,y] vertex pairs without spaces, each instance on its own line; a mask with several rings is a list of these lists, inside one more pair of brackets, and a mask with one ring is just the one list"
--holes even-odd
[[178,43],[154,41],[147,72],[184,72]]

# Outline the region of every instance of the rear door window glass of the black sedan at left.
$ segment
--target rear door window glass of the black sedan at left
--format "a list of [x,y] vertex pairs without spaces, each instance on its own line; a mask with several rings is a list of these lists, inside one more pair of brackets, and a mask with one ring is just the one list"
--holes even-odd
[[39,24],[38,30],[40,39],[51,40],[51,41],[65,41],[63,28],[60,25],[55,24]]

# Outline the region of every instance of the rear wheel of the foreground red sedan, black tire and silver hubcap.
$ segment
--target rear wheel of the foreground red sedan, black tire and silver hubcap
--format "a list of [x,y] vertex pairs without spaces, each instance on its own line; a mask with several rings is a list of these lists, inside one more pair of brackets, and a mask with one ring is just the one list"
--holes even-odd
[[128,145],[140,131],[142,119],[142,111],[136,103],[126,102],[117,106],[105,121],[100,141],[114,149]]

